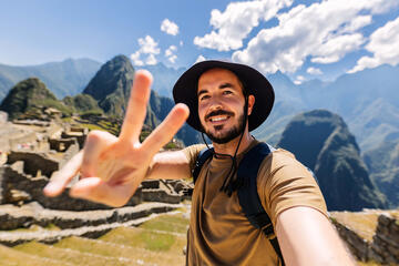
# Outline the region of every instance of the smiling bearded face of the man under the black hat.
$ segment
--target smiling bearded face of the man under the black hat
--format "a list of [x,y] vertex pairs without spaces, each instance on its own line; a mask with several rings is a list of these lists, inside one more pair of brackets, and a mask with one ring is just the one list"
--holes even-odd
[[212,69],[198,80],[198,116],[205,133],[218,144],[243,132],[245,98],[238,78],[225,69]]

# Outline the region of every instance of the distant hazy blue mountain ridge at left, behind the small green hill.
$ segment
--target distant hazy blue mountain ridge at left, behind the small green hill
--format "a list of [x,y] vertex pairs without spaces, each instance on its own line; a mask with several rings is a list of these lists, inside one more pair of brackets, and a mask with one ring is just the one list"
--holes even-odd
[[75,95],[82,92],[100,66],[101,63],[91,59],[68,59],[29,66],[0,64],[0,101],[13,85],[31,76],[43,81],[59,99]]

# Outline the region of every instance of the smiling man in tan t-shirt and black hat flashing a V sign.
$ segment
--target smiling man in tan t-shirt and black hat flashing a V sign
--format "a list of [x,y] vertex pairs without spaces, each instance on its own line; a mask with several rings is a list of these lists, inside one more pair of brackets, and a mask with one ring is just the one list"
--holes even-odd
[[[151,81],[150,73],[137,72],[120,137],[91,132],[83,152],[66,163],[44,193],[60,194],[80,172],[83,178],[71,187],[72,196],[122,206],[144,178],[190,176],[204,145],[157,153],[188,117],[190,125],[212,140],[214,155],[202,167],[193,193],[187,265],[282,265],[268,238],[250,225],[237,200],[245,181],[237,178],[236,168],[258,143],[249,131],[272,110],[272,85],[247,65],[200,62],[176,82],[176,106],[140,143]],[[270,153],[262,162],[256,183],[286,265],[352,265],[328,221],[315,180],[289,152]]]

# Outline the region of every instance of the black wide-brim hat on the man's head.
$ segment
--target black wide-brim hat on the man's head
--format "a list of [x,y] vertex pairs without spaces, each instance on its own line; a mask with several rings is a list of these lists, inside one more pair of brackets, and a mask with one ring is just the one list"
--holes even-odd
[[187,123],[200,132],[204,132],[198,117],[197,85],[200,76],[211,69],[226,69],[238,76],[248,95],[255,96],[252,114],[248,116],[248,130],[258,127],[270,114],[275,100],[272,84],[257,70],[239,63],[207,60],[191,66],[177,80],[173,88],[175,103],[185,103],[190,109]]

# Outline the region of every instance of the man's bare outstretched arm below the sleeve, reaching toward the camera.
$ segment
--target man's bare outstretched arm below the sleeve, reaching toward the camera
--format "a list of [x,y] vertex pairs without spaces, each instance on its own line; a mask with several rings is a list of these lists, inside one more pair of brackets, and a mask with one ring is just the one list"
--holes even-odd
[[331,223],[315,208],[282,212],[276,235],[286,265],[355,265]]

